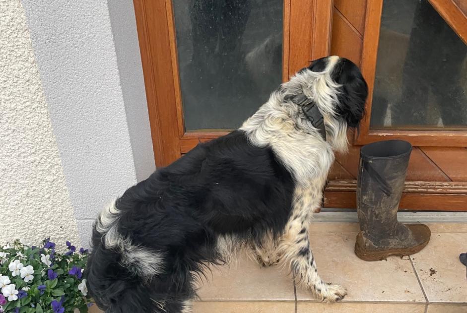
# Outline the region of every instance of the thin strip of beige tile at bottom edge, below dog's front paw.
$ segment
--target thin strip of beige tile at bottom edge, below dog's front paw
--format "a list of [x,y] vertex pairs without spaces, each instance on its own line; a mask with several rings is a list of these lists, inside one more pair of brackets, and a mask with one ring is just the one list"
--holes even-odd
[[299,302],[297,313],[424,313],[425,304],[415,303],[349,303],[326,304],[320,302]]

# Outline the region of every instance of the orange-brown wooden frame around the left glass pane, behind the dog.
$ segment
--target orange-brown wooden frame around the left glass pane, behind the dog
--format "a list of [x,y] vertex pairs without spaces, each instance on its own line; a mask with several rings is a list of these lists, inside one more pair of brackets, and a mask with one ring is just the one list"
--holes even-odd
[[[155,163],[166,166],[198,143],[229,131],[185,131],[172,0],[133,4]],[[284,0],[282,81],[329,55],[333,7],[334,0]]]

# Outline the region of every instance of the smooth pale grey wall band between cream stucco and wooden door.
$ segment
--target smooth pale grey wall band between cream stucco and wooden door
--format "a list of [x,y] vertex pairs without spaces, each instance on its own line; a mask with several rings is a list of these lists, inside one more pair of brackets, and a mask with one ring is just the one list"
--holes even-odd
[[115,23],[105,0],[21,2],[86,244],[105,203],[154,170],[133,1],[111,1]]

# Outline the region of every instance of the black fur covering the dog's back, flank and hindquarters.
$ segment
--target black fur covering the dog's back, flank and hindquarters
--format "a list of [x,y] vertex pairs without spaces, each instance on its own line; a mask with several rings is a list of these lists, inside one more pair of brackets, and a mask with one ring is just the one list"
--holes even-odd
[[[164,254],[164,273],[147,285],[119,265],[93,233],[88,288],[97,305],[110,312],[180,312],[194,296],[192,272],[223,262],[215,243],[220,235],[260,244],[278,236],[288,220],[294,182],[270,148],[247,142],[242,131],[198,145],[170,166],[128,189],[117,201],[123,211],[119,233]],[[163,302],[157,311],[150,298]],[[156,311],[151,311],[156,310]]]

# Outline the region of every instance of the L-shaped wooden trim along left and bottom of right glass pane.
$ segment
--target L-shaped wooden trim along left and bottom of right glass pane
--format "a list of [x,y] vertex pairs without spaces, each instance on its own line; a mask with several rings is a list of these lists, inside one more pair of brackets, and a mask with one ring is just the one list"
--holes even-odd
[[363,145],[384,139],[401,139],[414,146],[467,146],[467,131],[370,129],[382,10],[383,0],[368,0],[361,62],[361,70],[368,83],[368,99],[361,131],[356,134],[354,143]]

